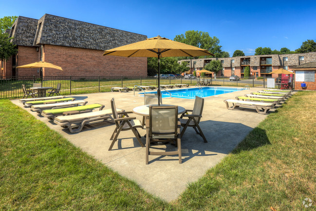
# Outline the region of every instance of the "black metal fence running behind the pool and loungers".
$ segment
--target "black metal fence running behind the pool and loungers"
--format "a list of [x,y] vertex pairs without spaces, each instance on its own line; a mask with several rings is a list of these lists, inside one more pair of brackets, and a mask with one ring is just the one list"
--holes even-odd
[[[231,81],[228,77],[204,78],[210,80],[211,86],[250,86],[266,87],[266,78],[257,79],[254,77],[240,78]],[[156,85],[156,77],[59,77],[50,76],[37,78],[33,77],[12,77],[9,79],[0,78],[0,98],[21,98],[23,96],[22,84],[26,89],[33,87],[34,83],[41,83],[42,87],[56,88],[61,83],[61,95],[86,94],[97,92],[110,92],[111,87],[133,87],[134,85]],[[196,78],[161,78],[160,84],[190,84],[197,83]]]

